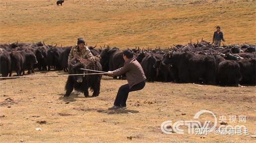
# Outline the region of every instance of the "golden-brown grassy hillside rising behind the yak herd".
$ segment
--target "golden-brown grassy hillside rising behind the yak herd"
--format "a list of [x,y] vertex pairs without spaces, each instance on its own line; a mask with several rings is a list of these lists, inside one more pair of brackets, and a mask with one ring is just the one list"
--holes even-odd
[[[7,8],[6,8],[7,2]],[[256,43],[255,1],[0,1],[0,42],[167,47],[211,41],[220,25],[228,43]]]

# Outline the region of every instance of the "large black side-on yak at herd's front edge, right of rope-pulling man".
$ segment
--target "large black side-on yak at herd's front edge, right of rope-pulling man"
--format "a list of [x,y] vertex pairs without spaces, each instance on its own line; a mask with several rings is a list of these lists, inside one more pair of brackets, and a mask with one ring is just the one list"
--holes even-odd
[[166,53],[163,64],[170,64],[175,81],[181,83],[216,83],[217,67],[214,56],[189,52]]

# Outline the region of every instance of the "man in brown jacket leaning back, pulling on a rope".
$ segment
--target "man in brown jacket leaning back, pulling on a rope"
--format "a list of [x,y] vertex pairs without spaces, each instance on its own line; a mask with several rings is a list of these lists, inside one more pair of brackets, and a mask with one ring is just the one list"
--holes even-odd
[[118,76],[125,73],[128,84],[122,85],[114,102],[114,106],[109,109],[118,109],[126,107],[126,100],[129,92],[142,90],[145,87],[145,74],[140,63],[133,58],[132,50],[126,49],[123,51],[124,64],[123,67],[115,70],[108,71],[106,74]]

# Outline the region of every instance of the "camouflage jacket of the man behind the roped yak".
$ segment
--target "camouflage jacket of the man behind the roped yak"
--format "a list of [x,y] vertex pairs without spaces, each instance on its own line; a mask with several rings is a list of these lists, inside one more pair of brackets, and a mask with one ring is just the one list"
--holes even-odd
[[82,50],[79,49],[78,45],[73,46],[69,53],[69,61],[73,59],[76,55],[80,56],[83,59],[95,61],[95,57],[87,46],[85,46]]

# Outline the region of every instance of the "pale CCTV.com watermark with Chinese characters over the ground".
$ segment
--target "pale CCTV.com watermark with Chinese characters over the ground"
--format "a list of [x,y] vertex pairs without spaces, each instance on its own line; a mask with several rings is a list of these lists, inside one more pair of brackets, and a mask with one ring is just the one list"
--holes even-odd
[[[205,121],[204,123],[198,121],[199,117],[204,113],[209,113],[213,117],[214,120],[212,124],[210,124],[211,121]],[[214,132],[216,135],[249,135],[249,130],[245,125],[227,125],[227,119],[225,116],[220,117],[219,122],[221,125],[217,127],[217,117],[212,111],[209,110],[201,110],[197,112],[194,119],[195,120],[188,121],[179,120],[174,123],[172,121],[165,121],[161,124],[161,130],[166,134],[184,134],[185,131],[183,127],[185,126],[187,127],[188,134],[195,135],[207,135],[210,132]],[[229,116],[229,123],[246,123],[246,116]]]

